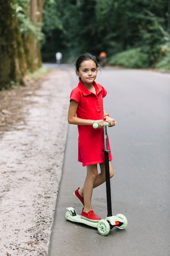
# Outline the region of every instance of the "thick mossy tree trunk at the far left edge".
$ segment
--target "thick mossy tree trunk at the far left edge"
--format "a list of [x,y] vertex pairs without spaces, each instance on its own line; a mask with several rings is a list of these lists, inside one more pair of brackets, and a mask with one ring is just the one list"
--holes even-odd
[[10,81],[24,84],[26,61],[13,0],[0,1],[0,89]]

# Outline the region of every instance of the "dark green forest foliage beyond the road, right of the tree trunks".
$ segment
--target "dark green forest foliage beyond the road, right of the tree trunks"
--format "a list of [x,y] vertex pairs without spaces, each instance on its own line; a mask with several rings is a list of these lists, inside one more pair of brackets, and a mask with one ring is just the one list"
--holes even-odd
[[73,62],[82,52],[98,56],[104,51],[109,58],[117,52],[126,56],[127,50],[132,49],[130,54],[137,52],[132,67],[155,67],[160,59],[160,45],[166,44],[165,37],[170,33],[168,2],[46,0],[43,60],[52,56],[55,60],[56,51],[62,52],[65,61]]

